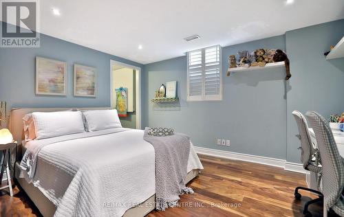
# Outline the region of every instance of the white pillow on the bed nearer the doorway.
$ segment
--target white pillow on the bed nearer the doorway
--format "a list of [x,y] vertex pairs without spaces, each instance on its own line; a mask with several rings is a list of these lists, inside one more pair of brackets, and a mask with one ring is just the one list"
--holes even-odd
[[89,131],[105,130],[109,128],[121,128],[120,118],[116,109],[84,111],[87,128]]

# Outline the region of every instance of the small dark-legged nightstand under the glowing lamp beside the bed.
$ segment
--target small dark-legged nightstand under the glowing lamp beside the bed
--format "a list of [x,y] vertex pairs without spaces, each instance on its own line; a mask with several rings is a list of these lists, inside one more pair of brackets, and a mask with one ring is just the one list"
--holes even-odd
[[11,163],[10,150],[16,147],[17,147],[17,143],[10,143],[10,144],[5,144],[5,145],[0,144],[0,151],[3,152],[3,163],[1,165],[0,181],[2,181],[3,171],[6,169],[7,183],[8,183],[8,185],[0,187],[0,190],[3,190],[4,188],[8,187],[10,189],[11,196],[13,196],[13,192],[12,192],[12,183],[11,183],[11,175],[10,175],[10,163]]

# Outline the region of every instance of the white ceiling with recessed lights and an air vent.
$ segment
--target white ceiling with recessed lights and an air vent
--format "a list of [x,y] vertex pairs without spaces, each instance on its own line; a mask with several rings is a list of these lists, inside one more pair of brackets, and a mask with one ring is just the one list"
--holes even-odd
[[[41,0],[40,4],[42,33],[142,64],[344,18],[343,0],[294,0],[291,5],[286,0]],[[58,8],[61,16],[54,16],[52,8]],[[183,40],[193,34],[201,38]]]

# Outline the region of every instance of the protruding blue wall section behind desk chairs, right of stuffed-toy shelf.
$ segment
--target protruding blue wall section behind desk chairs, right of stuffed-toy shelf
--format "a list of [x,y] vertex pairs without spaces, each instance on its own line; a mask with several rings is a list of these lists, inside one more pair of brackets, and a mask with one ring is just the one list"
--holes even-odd
[[317,111],[324,117],[344,111],[344,58],[326,60],[323,56],[343,36],[344,20],[286,32],[292,71],[287,100],[287,161],[300,161],[294,109]]

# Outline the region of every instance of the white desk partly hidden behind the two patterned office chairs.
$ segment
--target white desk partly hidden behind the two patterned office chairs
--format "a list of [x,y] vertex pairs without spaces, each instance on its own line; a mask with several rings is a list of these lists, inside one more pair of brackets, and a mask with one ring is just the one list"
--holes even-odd
[[[313,144],[318,146],[315,138],[315,134],[312,128],[309,128],[310,130],[310,137],[312,139]],[[344,132],[341,132],[339,130],[332,130],[334,141],[336,141],[339,154],[341,157],[344,157]],[[310,172],[306,174],[305,181],[307,182],[308,187],[312,189],[317,189],[316,187],[316,174],[314,172]]]

